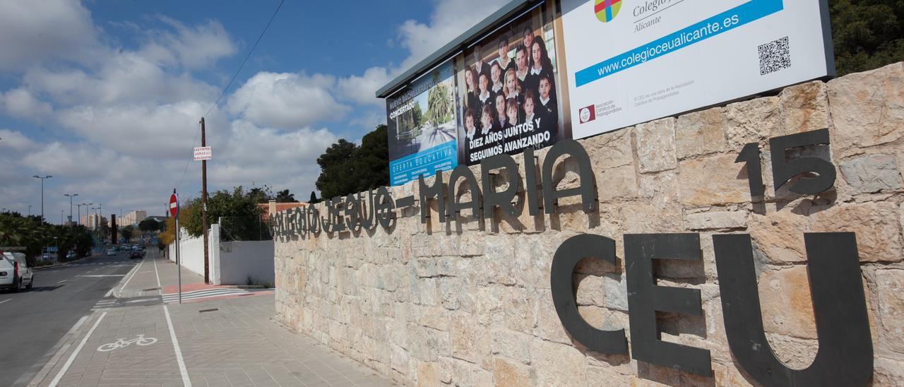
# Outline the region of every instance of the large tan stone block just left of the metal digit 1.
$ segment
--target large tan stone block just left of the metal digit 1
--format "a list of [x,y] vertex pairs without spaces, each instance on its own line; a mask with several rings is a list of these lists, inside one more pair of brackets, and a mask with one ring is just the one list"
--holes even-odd
[[680,202],[692,206],[749,202],[748,180],[739,176],[744,165],[735,164],[736,157],[713,156],[681,162]]

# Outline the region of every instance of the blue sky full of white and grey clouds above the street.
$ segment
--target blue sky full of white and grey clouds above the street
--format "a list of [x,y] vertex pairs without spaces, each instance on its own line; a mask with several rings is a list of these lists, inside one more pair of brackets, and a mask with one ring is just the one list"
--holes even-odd
[[[287,0],[206,117],[211,190],[290,189],[315,159],[385,121],[374,90],[505,0]],[[161,214],[174,187],[200,191],[198,121],[277,0],[0,2],[0,205],[60,222],[68,198]],[[82,213],[88,207],[82,207]]]

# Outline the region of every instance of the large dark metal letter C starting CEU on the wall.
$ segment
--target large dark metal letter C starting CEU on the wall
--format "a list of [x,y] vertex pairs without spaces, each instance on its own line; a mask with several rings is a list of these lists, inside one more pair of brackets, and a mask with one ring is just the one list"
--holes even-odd
[[552,304],[556,307],[562,327],[580,344],[602,354],[627,354],[625,329],[598,329],[590,326],[578,313],[571,275],[578,262],[588,257],[616,265],[616,241],[600,235],[582,234],[562,242],[552,257]]

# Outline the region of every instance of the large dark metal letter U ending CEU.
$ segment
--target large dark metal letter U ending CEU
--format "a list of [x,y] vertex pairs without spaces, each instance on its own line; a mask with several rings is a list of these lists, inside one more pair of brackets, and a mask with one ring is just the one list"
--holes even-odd
[[872,377],[872,338],[856,237],[805,233],[804,243],[819,349],[809,367],[793,370],[777,359],[763,330],[750,236],[712,236],[731,353],[764,385],[866,385]]

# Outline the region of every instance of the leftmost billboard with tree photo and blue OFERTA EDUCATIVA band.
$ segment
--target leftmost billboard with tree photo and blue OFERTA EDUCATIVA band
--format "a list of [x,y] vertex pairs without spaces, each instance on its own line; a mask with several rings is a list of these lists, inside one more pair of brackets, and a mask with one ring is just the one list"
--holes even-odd
[[456,167],[454,75],[446,61],[386,99],[390,184]]

